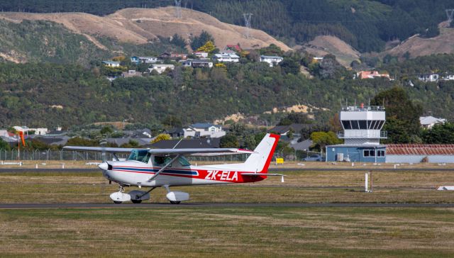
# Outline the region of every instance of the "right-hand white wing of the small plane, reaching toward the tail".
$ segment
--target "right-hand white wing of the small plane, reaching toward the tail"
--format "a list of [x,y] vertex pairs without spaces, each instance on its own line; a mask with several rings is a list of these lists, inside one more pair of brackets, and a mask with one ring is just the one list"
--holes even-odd
[[153,155],[189,155],[189,156],[220,156],[255,153],[251,150],[242,150],[235,148],[204,148],[204,149],[150,149]]

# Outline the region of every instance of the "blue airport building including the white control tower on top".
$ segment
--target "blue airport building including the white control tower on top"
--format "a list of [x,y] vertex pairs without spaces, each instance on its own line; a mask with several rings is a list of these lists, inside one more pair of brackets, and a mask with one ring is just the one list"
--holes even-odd
[[342,132],[340,145],[326,146],[326,162],[385,162],[386,146],[380,145],[387,138],[382,131],[386,120],[382,106],[345,106],[339,115]]

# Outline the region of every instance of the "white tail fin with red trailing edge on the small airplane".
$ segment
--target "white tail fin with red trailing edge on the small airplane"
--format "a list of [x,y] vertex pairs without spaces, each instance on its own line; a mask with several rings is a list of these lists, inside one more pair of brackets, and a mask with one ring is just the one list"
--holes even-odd
[[245,169],[257,173],[267,173],[279,138],[280,135],[267,133],[257,147],[255,147],[255,153],[251,154],[244,162]]

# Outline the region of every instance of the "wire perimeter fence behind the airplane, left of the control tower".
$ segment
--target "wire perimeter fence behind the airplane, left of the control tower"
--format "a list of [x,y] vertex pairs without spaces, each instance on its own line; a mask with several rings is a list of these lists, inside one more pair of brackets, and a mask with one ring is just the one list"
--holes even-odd
[[[283,157],[285,161],[301,160],[302,157],[307,157],[311,153],[319,152],[306,152],[306,153],[291,153],[284,154],[276,152],[272,161],[277,157]],[[128,153],[117,153],[118,159],[124,160],[128,158]],[[201,156],[201,157],[187,157],[189,161],[194,162],[244,162],[248,158],[247,154],[241,155],[221,155],[221,156]],[[91,161],[102,160],[101,152],[89,151],[73,151],[73,150],[0,150],[0,160],[72,160],[72,161]],[[106,160],[114,160],[115,157],[109,152],[106,152]]]

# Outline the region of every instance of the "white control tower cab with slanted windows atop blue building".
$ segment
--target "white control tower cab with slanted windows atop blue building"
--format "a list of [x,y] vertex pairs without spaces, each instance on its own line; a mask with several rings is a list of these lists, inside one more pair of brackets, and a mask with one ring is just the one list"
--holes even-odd
[[382,131],[386,120],[382,106],[344,106],[339,119],[343,132],[338,132],[338,138],[345,145],[380,145],[380,139],[387,138]]

